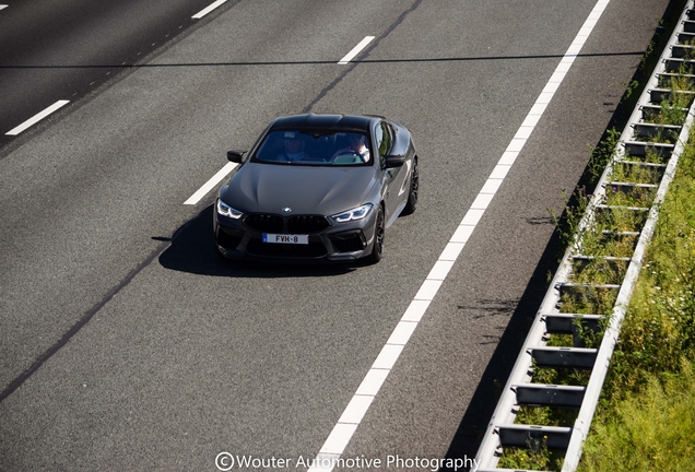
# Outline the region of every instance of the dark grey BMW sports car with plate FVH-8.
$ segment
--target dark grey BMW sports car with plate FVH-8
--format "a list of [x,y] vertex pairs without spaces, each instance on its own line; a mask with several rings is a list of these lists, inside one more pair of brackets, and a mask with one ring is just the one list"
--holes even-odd
[[376,263],[385,229],[417,205],[417,154],[404,127],[378,116],[275,119],[215,202],[214,233],[229,259]]

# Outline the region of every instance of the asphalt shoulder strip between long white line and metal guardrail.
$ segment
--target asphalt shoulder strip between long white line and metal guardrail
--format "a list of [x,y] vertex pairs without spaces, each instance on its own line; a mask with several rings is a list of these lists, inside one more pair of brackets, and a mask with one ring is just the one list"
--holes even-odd
[[665,7],[611,1],[344,457],[475,456],[562,253],[547,209],[576,186]]

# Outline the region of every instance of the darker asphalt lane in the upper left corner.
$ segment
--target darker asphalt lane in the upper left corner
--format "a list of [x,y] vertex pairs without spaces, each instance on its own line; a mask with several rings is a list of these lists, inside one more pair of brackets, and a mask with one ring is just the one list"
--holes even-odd
[[[113,81],[208,19],[212,1],[15,1],[0,10],[0,146],[59,99]],[[221,9],[222,10],[222,9]]]

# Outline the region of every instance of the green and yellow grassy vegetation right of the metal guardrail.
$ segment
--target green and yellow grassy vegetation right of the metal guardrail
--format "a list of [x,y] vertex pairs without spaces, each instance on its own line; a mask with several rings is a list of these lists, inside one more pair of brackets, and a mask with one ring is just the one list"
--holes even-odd
[[660,212],[580,471],[693,471],[695,133]]

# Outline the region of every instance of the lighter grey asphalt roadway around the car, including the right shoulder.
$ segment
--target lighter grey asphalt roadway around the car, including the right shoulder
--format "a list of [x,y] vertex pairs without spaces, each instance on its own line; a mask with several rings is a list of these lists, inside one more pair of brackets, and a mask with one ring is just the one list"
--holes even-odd
[[[0,378],[14,382],[2,469],[214,470],[223,450],[318,451],[592,8],[444,3],[238,2],[0,162]],[[545,208],[576,182],[664,4],[644,7],[611,3],[599,55],[570,76],[348,453],[450,447],[545,249]],[[333,63],[369,34],[364,62]],[[216,261],[211,197],[182,201],[274,116],[335,109],[385,114],[417,139],[422,204],[388,232],[386,259]]]

